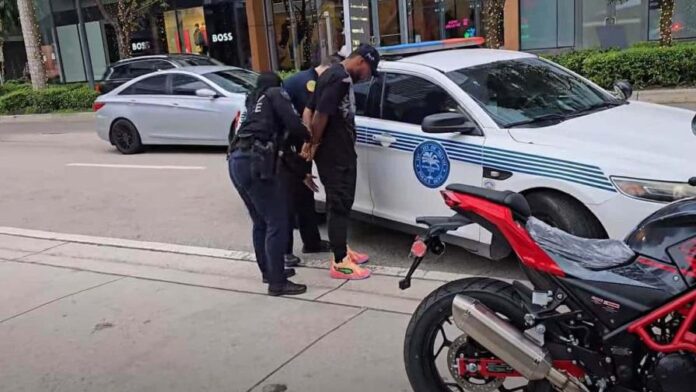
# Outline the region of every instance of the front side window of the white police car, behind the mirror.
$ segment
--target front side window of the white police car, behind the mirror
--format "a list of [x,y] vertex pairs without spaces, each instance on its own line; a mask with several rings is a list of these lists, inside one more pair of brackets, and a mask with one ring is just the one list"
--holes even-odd
[[447,112],[461,109],[442,87],[417,76],[387,74],[382,119],[420,125],[431,114]]

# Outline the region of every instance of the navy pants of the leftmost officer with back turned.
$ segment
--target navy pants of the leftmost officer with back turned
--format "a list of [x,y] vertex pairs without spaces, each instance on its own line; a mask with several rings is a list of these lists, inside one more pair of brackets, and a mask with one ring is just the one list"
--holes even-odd
[[287,188],[281,176],[269,180],[251,172],[251,153],[234,151],[229,158],[230,178],[253,222],[256,262],[271,287],[285,278],[285,249],[288,245]]

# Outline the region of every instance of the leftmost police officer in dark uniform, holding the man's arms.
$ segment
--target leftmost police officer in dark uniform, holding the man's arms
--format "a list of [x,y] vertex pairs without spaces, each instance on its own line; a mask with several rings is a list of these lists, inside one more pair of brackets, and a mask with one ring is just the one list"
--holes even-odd
[[302,143],[309,132],[272,72],[259,75],[246,100],[247,115],[230,146],[229,170],[253,221],[256,260],[268,283],[268,294],[298,295],[307,286],[287,278],[283,255],[288,243],[287,187],[278,174],[281,151],[288,143]]

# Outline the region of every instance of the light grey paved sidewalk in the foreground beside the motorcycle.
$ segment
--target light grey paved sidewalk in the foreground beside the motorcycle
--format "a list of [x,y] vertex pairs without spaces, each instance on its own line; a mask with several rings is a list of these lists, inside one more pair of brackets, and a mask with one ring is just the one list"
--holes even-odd
[[443,284],[301,268],[272,298],[247,260],[39,236],[0,234],[3,391],[409,391],[403,335]]

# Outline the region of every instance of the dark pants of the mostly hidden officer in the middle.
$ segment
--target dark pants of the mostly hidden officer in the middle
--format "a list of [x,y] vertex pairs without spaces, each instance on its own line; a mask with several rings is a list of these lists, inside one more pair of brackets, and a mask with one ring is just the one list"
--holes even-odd
[[[307,167],[302,168],[304,172],[310,173],[312,164],[307,163]],[[288,169],[283,170],[286,177],[286,184],[290,194],[288,206],[288,231],[289,243],[286,254],[293,253],[293,230],[295,224],[300,230],[302,244],[306,249],[318,249],[321,246],[321,235],[319,234],[319,219],[314,206],[314,192],[304,184],[298,172]]]

